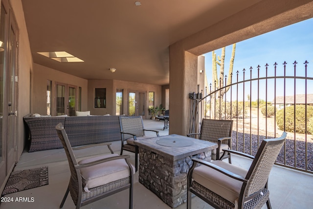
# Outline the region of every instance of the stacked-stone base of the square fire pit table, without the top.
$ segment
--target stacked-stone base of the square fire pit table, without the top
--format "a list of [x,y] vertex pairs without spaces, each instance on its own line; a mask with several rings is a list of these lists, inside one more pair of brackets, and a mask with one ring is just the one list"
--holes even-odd
[[176,208],[187,201],[187,174],[192,166],[191,158],[210,161],[211,150],[173,161],[139,147],[139,182],[171,208]]

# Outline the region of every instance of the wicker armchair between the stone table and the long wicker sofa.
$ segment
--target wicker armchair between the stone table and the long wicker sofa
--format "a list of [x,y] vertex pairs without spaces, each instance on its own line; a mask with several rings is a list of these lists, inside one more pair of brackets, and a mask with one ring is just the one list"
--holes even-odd
[[138,170],[138,147],[135,146],[134,140],[147,139],[145,131],[153,131],[156,137],[159,137],[158,131],[144,129],[141,116],[119,116],[119,124],[121,128],[122,146],[123,150],[135,153],[135,171]]

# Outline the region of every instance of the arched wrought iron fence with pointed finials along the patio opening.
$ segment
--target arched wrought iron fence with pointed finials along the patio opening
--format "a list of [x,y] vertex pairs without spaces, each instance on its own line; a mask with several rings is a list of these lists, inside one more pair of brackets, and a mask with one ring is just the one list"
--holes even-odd
[[[193,102],[194,111],[204,111],[200,115],[205,117],[233,119],[232,149],[250,155],[256,154],[263,139],[286,131],[276,164],[313,173],[313,70],[308,69],[308,62],[266,64],[256,71],[251,67],[248,75],[246,71],[237,71],[232,79],[236,81],[220,89],[210,84],[203,98],[196,97],[201,107]],[[227,77],[223,79],[226,84]]]

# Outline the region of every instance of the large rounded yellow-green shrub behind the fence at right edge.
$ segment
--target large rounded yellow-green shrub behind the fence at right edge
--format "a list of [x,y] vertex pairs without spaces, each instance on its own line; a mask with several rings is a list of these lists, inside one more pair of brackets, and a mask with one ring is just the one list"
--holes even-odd
[[[285,108],[285,130],[288,132],[294,131],[299,134],[305,134],[305,123],[307,122],[307,132],[312,133],[313,130],[313,106],[307,105],[307,121],[305,121],[305,105],[295,106],[295,119],[294,119],[294,106]],[[276,114],[277,126],[280,130],[284,130],[284,109],[277,111]]]

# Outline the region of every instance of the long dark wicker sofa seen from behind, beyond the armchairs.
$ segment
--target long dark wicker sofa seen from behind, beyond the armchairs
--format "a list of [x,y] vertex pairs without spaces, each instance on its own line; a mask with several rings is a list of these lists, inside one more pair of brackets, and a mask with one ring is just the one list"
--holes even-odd
[[118,116],[23,117],[29,131],[28,152],[63,148],[55,126],[62,123],[72,146],[121,140]]

